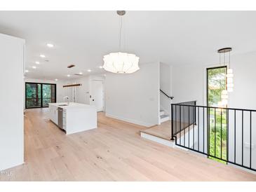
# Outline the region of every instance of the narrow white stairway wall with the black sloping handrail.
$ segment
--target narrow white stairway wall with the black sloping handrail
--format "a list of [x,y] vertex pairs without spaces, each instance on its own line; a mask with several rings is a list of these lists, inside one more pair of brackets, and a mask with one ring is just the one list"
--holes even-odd
[[[160,62],[160,89],[167,95],[173,96],[173,67],[170,64]],[[160,92],[160,107],[170,115],[170,104],[172,100]]]

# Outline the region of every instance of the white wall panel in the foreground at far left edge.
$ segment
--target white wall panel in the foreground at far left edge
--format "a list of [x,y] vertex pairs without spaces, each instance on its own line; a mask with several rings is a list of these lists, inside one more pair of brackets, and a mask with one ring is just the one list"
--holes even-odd
[[25,40],[0,34],[0,170],[24,162],[24,46]]

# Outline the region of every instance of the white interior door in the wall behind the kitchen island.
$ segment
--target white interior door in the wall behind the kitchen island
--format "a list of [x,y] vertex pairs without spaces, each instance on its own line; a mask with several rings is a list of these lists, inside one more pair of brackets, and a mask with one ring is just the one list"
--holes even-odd
[[90,104],[104,111],[103,81],[90,81]]

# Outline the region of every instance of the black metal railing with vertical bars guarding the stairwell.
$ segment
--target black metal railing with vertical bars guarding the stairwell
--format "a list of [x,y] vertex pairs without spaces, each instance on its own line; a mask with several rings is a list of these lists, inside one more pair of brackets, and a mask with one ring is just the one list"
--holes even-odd
[[256,110],[171,105],[172,139],[177,146],[256,171]]

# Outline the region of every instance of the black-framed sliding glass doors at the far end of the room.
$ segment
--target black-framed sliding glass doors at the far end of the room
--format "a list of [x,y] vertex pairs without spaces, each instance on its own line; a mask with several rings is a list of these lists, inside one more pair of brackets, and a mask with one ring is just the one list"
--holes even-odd
[[56,102],[56,84],[25,83],[25,108],[48,107]]

